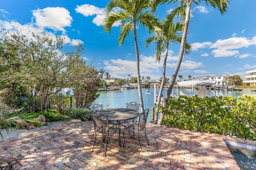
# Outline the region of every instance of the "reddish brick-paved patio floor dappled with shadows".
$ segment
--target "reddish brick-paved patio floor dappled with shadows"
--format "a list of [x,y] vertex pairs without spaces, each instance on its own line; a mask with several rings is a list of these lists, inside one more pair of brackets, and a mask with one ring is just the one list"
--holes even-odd
[[[0,142],[1,170],[240,170],[220,135],[147,123],[147,136],[125,140],[119,147],[112,135],[106,143],[98,135],[94,152],[92,121],[68,121]],[[123,139],[122,139],[123,143]]]

